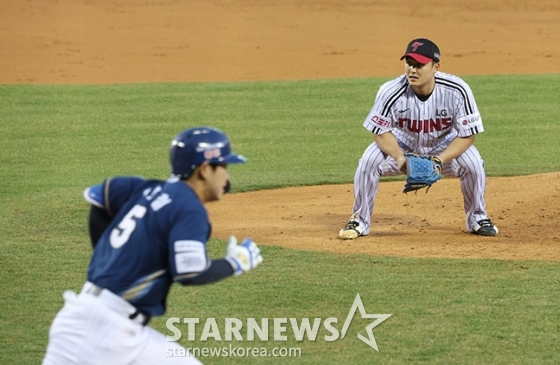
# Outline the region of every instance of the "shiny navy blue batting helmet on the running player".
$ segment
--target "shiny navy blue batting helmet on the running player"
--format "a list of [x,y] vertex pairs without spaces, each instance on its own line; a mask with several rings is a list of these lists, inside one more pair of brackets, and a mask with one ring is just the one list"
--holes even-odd
[[169,148],[171,173],[187,179],[204,162],[216,164],[244,163],[247,159],[231,152],[228,136],[212,127],[196,127],[179,133]]

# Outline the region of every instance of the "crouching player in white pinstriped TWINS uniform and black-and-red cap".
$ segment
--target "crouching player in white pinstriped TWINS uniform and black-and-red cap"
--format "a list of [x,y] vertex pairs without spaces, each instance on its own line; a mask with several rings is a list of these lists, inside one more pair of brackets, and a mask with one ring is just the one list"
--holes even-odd
[[405,73],[379,88],[363,123],[372,132],[373,143],[359,160],[352,215],[340,238],[369,234],[379,179],[406,173],[409,152],[437,162],[441,175],[458,177],[467,229],[495,236],[498,228],[488,218],[484,202],[484,161],[473,145],[484,127],[470,87],[439,71],[439,48],[428,39],[412,40],[401,60]]

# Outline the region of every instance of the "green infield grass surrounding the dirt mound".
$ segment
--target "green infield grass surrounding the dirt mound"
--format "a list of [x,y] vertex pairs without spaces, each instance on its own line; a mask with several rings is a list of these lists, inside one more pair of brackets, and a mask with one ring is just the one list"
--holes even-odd
[[[249,158],[229,168],[233,193],[351,183],[371,142],[363,119],[387,80],[0,85],[0,363],[40,363],[63,291],[79,290],[86,279],[84,188],[115,175],[166,178],[171,139],[197,125],[221,128]],[[483,116],[476,146],[489,176],[560,171],[560,75],[465,80]],[[210,241],[212,257],[224,250],[225,242]],[[227,356],[199,356],[207,364],[560,363],[558,262],[266,245],[262,252],[264,263],[247,275],[173,287],[168,312],[152,326],[172,335],[168,319],[198,318],[192,341],[186,324],[176,328],[185,347],[227,349]],[[358,338],[373,321],[359,311],[346,336],[335,336],[357,294],[368,314],[391,314],[373,331],[379,351]],[[208,318],[217,330],[202,340],[212,329]],[[240,339],[225,339],[227,318],[243,324]],[[268,320],[267,340],[247,338],[249,318]],[[298,335],[305,319],[318,327]],[[299,352],[239,356],[249,348]]]

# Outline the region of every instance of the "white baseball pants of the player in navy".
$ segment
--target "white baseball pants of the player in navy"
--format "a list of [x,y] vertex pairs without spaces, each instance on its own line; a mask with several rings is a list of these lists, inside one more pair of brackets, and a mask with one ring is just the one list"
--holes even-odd
[[[64,292],[64,307],[56,315],[49,332],[43,365],[201,365],[160,332],[129,318],[136,311],[130,303],[103,290],[98,296]],[[169,350],[169,349],[181,349]],[[183,351],[184,350],[184,351]]]

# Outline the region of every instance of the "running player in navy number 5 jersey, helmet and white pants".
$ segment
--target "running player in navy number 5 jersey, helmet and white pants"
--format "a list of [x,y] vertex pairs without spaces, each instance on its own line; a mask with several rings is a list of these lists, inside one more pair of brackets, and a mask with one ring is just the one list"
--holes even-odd
[[248,238],[238,244],[232,236],[221,260],[206,251],[204,204],[229,190],[227,165],[245,161],[220,130],[192,128],[171,143],[168,180],[122,176],[86,189],[94,246],[87,281],[79,294],[64,293],[43,364],[201,364],[168,357],[187,350],[147,324],[165,313],[174,282],[208,284],[262,262]]

